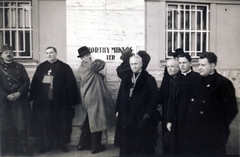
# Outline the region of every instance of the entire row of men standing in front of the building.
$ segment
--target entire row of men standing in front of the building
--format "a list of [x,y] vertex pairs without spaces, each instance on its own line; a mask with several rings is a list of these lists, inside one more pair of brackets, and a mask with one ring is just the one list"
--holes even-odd
[[68,152],[66,144],[71,140],[75,112],[71,106],[77,104],[81,104],[79,151],[91,150],[94,154],[105,150],[102,131],[116,125],[114,145],[120,147],[121,157],[153,156],[158,123],[162,121],[164,155],[225,154],[229,125],[238,108],[231,81],[215,70],[214,53],[199,56],[197,73],[191,56],[177,49],[174,58],[167,60],[158,90],[155,78],[146,71],[149,54],[125,49],[123,62],[116,69],[121,79],[116,106],[100,73],[105,63],[92,61],[85,46],[78,53],[82,59],[77,76],[80,87],[70,66],[57,59],[55,47],[46,48],[47,61],[39,64],[30,85],[24,66],[13,60],[13,48],[2,47],[2,154],[30,154],[29,126],[36,144],[42,146],[39,153],[54,146]]

